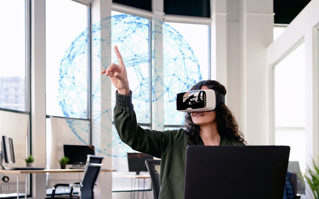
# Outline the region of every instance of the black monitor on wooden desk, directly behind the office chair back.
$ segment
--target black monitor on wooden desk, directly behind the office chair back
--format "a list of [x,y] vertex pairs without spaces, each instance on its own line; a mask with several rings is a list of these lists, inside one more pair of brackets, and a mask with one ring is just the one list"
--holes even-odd
[[95,155],[94,146],[87,145],[63,145],[64,156],[70,158],[68,164],[83,165],[87,155]]

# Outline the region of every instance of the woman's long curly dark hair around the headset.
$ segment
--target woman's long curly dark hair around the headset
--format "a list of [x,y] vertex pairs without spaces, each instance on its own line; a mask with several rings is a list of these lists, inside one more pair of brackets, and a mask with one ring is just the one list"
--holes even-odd
[[[209,89],[226,95],[225,86],[215,80],[206,80],[205,82],[203,82],[202,86],[207,86]],[[191,87],[190,90],[193,90],[193,88],[194,86]],[[219,135],[247,144],[244,139],[244,135],[241,133],[241,131],[238,130],[238,123],[236,122],[232,112],[228,109],[228,107],[223,103],[219,103],[218,106],[215,108],[215,111],[217,131]],[[200,126],[193,123],[190,113],[186,113],[185,115],[184,127],[185,135],[188,140],[187,144],[196,145],[200,136]]]

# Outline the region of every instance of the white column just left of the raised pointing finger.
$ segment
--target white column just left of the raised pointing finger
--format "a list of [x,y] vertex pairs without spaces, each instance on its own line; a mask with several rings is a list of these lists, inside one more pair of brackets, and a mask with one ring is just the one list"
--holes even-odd
[[[92,25],[101,22],[101,20],[106,17],[110,17],[111,11],[112,0],[94,0],[91,4]],[[108,22],[109,21],[111,20],[109,19]],[[101,23],[103,23],[103,21]],[[109,36],[111,36],[111,25],[108,26],[108,28],[101,28],[99,34],[100,38],[108,38]],[[92,41],[92,43],[93,42],[94,41]],[[111,101],[107,100],[110,99],[111,96],[111,81],[108,77],[106,77],[105,75],[102,76],[100,73],[101,70],[107,68],[111,64],[111,52],[111,44],[108,44],[105,40],[100,41],[99,45],[92,47],[93,55],[97,56],[100,54],[100,58],[97,58],[96,56],[94,56],[94,58],[92,57],[92,89],[99,88],[95,93],[98,99],[96,100],[96,98],[92,98],[92,115],[96,115],[101,111],[111,110],[112,107]],[[97,61],[97,59],[99,60]],[[100,81],[101,76],[102,79]],[[95,119],[97,119],[92,122],[91,128],[92,144],[96,148],[106,149],[105,152],[107,154],[112,153],[111,147],[108,147],[108,142],[112,140],[112,135],[110,133],[112,129],[112,121],[110,120],[109,115],[112,115],[112,113],[101,113],[101,116],[99,118],[95,117]],[[103,128],[101,126],[103,126]],[[105,131],[105,128],[107,128],[108,131]],[[112,156],[105,155],[104,153],[97,153],[97,155],[105,156],[102,162],[102,168],[112,168]],[[106,175],[104,173],[100,173],[98,184],[99,185],[94,188],[95,198],[112,198],[111,172],[108,172]]]

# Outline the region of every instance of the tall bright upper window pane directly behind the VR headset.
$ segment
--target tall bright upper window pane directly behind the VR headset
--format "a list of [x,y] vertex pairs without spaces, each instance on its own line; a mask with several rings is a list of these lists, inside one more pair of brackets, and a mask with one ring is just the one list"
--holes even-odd
[[176,129],[183,125],[185,115],[176,110],[176,94],[210,78],[210,27],[167,22],[163,29],[165,75],[171,76],[164,78],[169,88],[164,99],[164,124]]

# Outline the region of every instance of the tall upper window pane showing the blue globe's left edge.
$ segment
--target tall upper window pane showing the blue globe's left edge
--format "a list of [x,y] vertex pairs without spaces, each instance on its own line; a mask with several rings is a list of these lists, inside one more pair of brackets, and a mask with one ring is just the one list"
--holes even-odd
[[81,34],[88,35],[87,7],[46,0],[45,24],[47,115],[87,119],[88,54],[71,51]]

